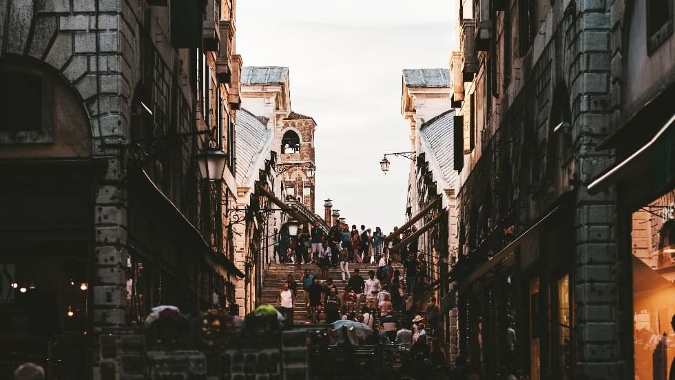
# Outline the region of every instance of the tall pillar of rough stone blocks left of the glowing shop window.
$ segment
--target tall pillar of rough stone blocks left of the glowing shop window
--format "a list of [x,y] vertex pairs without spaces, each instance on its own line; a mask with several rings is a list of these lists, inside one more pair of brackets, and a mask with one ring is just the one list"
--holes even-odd
[[[591,379],[627,379],[619,345],[614,190],[591,197],[586,186],[612,163],[612,152],[595,150],[610,130],[610,14],[604,1],[577,1],[576,40],[572,43],[570,97],[574,100],[572,138],[579,178],[574,217],[577,263],[578,370]],[[590,64],[590,63],[592,64]],[[574,70],[574,69],[573,69]],[[627,311],[630,312],[630,311]]]

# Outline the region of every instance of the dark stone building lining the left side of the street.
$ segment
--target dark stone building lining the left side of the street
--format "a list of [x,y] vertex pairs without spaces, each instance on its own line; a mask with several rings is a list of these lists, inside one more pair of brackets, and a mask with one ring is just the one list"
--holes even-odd
[[233,301],[235,7],[0,1],[3,375],[87,379],[100,332]]

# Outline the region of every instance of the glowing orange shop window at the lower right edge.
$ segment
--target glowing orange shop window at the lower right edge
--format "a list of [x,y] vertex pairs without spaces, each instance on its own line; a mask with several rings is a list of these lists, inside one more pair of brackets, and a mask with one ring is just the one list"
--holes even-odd
[[669,379],[675,359],[675,189],[632,213],[636,379]]

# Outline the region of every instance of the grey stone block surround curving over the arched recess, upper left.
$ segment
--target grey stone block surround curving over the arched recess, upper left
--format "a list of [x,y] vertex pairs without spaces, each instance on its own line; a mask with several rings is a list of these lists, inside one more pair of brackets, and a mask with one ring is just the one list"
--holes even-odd
[[[101,10],[94,17],[89,6],[64,0],[5,0],[0,8],[6,10],[0,12],[0,58],[23,57],[50,66],[79,97],[90,139],[122,137],[119,96],[124,87],[114,11],[105,10],[104,16]],[[107,32],[96,39],[96,30]],[[110,152],[92,144],[92,154]]]

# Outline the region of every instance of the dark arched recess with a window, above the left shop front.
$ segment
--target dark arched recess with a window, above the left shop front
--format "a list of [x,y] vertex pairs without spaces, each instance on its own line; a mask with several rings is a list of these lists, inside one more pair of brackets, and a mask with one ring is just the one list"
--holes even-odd
[[[7,118],[0,121],[6,123],[0,128],[0,143],[11,144],[3,146],[4,157],[92,155],[92,123],[87,108],[70,81],[52,66],[32,57],[5,54],[0,57],[0,81],[9,95],[3,99],[7,108],[0,111],[0,117]],[[23,86],[30,90],[22,93]],[[19,98],[14,99],[14,106],[11,96]],[[30,110],[21,110],[23,103],[30,104]]]

